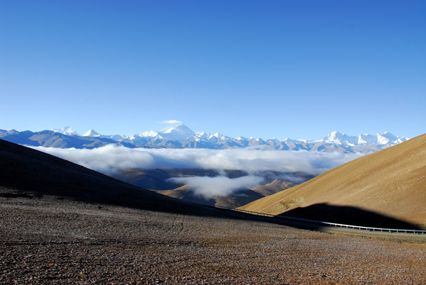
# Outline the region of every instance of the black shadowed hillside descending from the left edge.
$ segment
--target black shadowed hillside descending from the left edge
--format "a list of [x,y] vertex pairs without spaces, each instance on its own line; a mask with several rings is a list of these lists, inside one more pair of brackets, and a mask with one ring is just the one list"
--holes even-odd
[[94,172],[53,155],[0,140],[0,195],[62,196],[153,211],[214,215],[218,211],[193,206]]

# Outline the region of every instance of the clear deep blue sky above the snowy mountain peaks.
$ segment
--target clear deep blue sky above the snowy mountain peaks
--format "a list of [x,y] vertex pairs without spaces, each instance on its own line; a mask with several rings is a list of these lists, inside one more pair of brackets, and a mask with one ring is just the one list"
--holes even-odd
[[426,133],[426,1],[0,0],[0,128]]

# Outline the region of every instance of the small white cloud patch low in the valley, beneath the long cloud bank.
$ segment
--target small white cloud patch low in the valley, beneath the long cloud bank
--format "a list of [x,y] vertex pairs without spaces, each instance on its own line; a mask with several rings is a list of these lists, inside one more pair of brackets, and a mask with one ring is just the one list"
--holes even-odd
[[248,175],[238,178],[218,177],[175,177],[170,179],[175,183],[182,183],[190,186],[195,194],[207,198],[214,196],[228,196],[233,191],[257,186],[263,181],[263,177]]

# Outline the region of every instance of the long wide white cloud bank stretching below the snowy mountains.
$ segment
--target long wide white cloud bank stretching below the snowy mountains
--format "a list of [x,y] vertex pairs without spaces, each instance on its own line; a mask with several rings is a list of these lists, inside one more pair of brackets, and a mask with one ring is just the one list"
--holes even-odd
[[90,169],[112,174],[119,169],[238,169],[255,174],[261,171],[305,172],[317,175],[362,155],[341,152],[283,150],[146,149],[116,145],[88,149],[33,147]]

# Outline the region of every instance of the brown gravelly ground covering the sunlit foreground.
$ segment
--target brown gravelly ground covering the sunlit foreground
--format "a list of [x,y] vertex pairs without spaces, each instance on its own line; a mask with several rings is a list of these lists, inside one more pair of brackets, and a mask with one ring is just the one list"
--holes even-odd
[[0,197],[0,284],[426,284],[426,244]]

